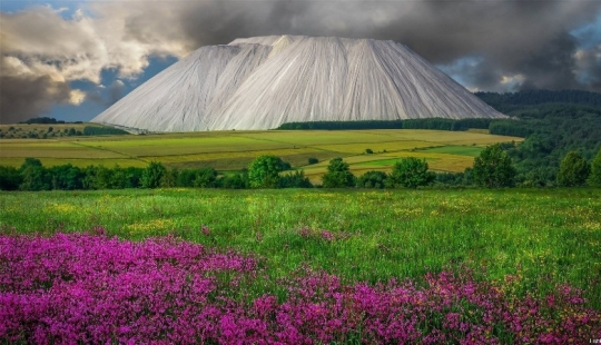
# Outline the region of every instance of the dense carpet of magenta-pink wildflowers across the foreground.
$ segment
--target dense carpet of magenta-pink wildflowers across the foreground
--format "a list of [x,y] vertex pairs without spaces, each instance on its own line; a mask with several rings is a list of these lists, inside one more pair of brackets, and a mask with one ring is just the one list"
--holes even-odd
[[[252,297],[256,259],[173,237],[0,236],[0,342],[578,344],[601,314],[566,286],[506,296],[467,273],[343,284],[302,269]],[[265,284],[269,282],[262,282]],[[246,297],[245,297],[246,296]]]

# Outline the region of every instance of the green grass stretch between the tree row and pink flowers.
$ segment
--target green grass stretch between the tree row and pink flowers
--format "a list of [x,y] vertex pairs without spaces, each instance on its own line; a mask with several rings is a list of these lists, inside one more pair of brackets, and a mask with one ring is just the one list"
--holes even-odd
[[463,264],[516,293],[577,286],[600,309],[600,209],[601,189],[0,193],[0,230],[175,234],[258,255],[273,277],[306,263],[373,283]]

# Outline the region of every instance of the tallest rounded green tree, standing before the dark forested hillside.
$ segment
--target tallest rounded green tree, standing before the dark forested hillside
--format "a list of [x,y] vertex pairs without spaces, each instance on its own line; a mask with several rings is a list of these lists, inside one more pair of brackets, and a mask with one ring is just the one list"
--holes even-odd
[[512,187],[515,184],[515,168],[500,144],[487,146],[474,159],[472,178],[474,184],[486,188]]

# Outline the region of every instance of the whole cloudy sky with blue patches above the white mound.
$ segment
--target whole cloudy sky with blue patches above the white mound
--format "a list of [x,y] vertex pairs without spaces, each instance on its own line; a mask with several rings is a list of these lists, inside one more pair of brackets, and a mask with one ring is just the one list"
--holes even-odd
[[601,92],[599,0],[0,1],[0,121],[90,120],[206,45],[395,40],[472,91]]

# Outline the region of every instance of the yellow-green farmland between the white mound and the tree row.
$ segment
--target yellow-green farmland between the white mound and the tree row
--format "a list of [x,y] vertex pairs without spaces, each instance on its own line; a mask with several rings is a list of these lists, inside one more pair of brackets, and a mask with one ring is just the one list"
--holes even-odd
[[[61,130],[59,126],[71,125],[55,125],[57,130]],[[43,131],[43,128],[39,130]],[[315,183],[319,181],[325,171],[327,160],[334,157],[345,158],[356,175],[370,169],[390,170],[395,159],[402,157],[425,158],[431,169],[437,171],[463,171],[472,165],[473,157],[477,156],[484,146],[521,140],[522,138],[477,131],[410,129],[60,137],[1,139],[0,159],[2,165],[14,167],[19,167],[26,157],[33,157],[39,158],[45,166],[72,164],[78,167],[112,167],[118,164],[121,167],[142,167],[150,161],[159,161],[178,168],[213,167],[217,170],[239,170],[246,168],[257,156],[275,155],[290,162],[294,168],[305,169],[305,175]],[[366,155],[366,149],[374,154]],[[317,158],[321,164],[307,166],[307,160],[312,157]]]

